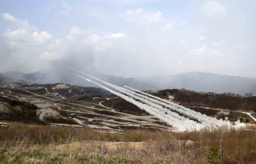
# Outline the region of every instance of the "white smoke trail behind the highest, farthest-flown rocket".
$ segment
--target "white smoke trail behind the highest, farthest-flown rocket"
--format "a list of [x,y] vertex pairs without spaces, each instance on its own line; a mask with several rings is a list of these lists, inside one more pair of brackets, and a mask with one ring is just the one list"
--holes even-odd
[[[71,67],[69,67],[69,68],[71,68]],[[74,69],[74,68],[72,68],[72,69]],[[76,70],[76,69],[74,69],[74,70]],[[76,71],[78,71],[78,70],[76,70]],[[81,71],[79,71],[79,72],[81,72]],[[81,72],[81,73],[83,73],[83,72]],[[96,80],[99,80],[100,82],[102,82],[102,83],[104,83],[104,84],[106,84],[106,85],[108,85],[108,86],[110,86],[110,87],[112,87],[112,88],[114,88],[114,89],[116,89],[116,90],[122,92],[122,93],[125,93],[126,95],[128,95],[128,96],[130,96],[130,97],[133,97],[133,98],[135,98],[135,99],[137,99],[137,100],[140,100],[141,102],[143,102],[143,103],[145,103],[145,104],[148,104],[148,105],[150,105],[150,106],[152,106],[152,107],[154,107],[154,108],[159,109],[159,112],[162,112],[162,115],[164,115],[164,117],[167,117],[168,119],[171,119],[171,120],[173,120],[173,118],[176,118],[176,119],[178,119],[178,120],[174,120],[174,121],[176,121],[177,123],[182,124],[182,125],[185,126],[185,127],[188,127],[188,126],[191,126],[191,125],[198,125],[198,123],[195,122],[195,121],[193,121],[193,120],[189,120],[189,119],[187,119],[187,118],[185,118],[185,117],[183,117],[183,116],[180,116],[180,115],[179,115],[178,113],[176,113],[176,112],[172,112],[172,111],[170,111],[170,110],[167,109],[167,108],[163,108],[163,107],[162,107],[162,104],[158,105],[158,104],[156,104],[156,103],[152,103],[151,101],[148,101],[147,99],[151,99],[151,98],[148,98],[147,96],[140,95],[140,94],[137,94],[137,93],[132,92],[132,91],[130,91],[130,90],[127,90],[127,89],[125,89],[125,88],[121,88],[121,87],[119,87],[119,86],[110,84],[110,83],[105,82],[105,81],[103,81],[103,80],[101,80],[101,79],[98,79],[98,78],[96,78],[96,77],[93,77],[93,76],[91,76],[91,75],[89,75],[89,74],[86,74],[86,73],[83,73],[83,74],[85,74],[85,75],[87,75],[87,76],[90,76],[90,77],[92,77],[92,78],[94,78],[94,79],[96,79]],[[136,94],[136,95],[138,95],[138,96],[136,96],[136,95],[134,95],[134,94]],[[152,99],[152,100],[155,100],[155,99]],[[177,108],[176,110],[179,110],[179,109]]]

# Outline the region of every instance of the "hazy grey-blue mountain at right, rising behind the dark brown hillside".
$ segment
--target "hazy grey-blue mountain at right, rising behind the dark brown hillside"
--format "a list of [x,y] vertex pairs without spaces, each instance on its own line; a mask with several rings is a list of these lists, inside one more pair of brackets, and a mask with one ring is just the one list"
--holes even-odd
[[203,72],[187,72],[170,76],[151,76],[140,78],[156,86],[158,90],[167,88],[186,88],[204,92],[253,93],[256,95],[256,79],[240,76],[227,76]]

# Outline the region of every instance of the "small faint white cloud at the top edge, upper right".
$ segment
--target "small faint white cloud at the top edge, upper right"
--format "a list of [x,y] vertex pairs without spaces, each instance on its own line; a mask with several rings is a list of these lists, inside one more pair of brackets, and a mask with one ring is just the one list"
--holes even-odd
[[210,17],[226,14],[225,7],[215,1],[206,2],[201,8],[201,11]]

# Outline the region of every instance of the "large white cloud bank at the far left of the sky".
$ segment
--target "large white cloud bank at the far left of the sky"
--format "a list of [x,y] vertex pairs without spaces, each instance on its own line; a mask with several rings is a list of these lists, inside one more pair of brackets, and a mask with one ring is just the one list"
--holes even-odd
[[[41,59],[54,59],[56,54],[42,53],[39,56],[38,52],[47,51],[46,47],[51,41],[52,35],[30,25],[27,21],[16,19],[9,13],[3,13],[1,16],[3,20],[16,26],[12,26],[15,29],[7,29],[0,37],[0,51],[3,52],[2,55],[5,58],[3,60],[1,58],[0,65],[3,65],[5,69],[22,72],[33,72],[47,68],[49,62],[42,62]],[[38,60],[39,58],[40,60]]]

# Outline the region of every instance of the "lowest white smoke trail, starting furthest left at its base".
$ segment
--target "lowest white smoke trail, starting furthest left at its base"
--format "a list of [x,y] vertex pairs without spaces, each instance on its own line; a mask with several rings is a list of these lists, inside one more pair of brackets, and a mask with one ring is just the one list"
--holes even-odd
[[[74,74],[74,75],[76,75],[76,74]],[[76,76],[78,76],[78,75],[76,75]],[[116,91],[114,91],[114,90],[112,90],[112,89],[109,89],[109,88],[107,88],[107,87],[105,87],[105,86],[102,86],[102,85],[100,85],[100,84],[98,84],[98,83],[96,83],[96,82],[94,82],[94,81],[91,81],[91,80],[89,80],[89,79],[86,79],[86,78],[84,78],[84,77],[81,77],[81,76],[78,76],[78,77],[83,78],[83,79],[85,79],[85,80],[87,80],[87,81],[89,81],[89,82],[92,82],[92,83],[98,85],[99,87],[101,87],[101,88],[103,88],[103,89],[109,91],[110,93],[115,94],[115,95],[117,95],[117,96],[123,98],[124,100],[126,100],[126,101],[128,101],[128,102],[130,102],[130,103],[132,103],[132,104],[134,104],[134,105],[136,105],[136,106],[137,106],[138,108],[140,108],[141,110],[145,110],[145,111],[148,112],[149,114],[151,114],[151,115],[153,115],[153,116],[159,118],[161,121],[164,121],[164,122],[168,123],[169,125],[172,125],[173,127],[177,128],[178,130],[185,130],[185,129],[186,129],[185,126],[183,126],[183,125],[181,125],[181,124],[179,124],[179,123],[176,123],[176,122],[174,122],[173,120],[169,120],[169,119],[167,119],[166,117],[163,117],[161,114],[158,113],[158,111],[157,111],[155,108],[153,108],[153,107],[151,107],[151,106],[149,106],[149,105],[146,105],[146,104],[143,104],[143,103],[141,103],[141,102],[138,102],[138,101],[134,100],[133,98],[131,98],[131,97],[129,97],[129,96],[126,96],[126,95],[123,95],[123,94],[121,94],[121,93],[118,93],[118,92],[116,92]]]

